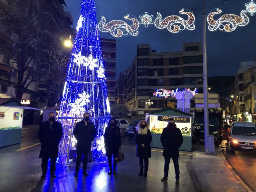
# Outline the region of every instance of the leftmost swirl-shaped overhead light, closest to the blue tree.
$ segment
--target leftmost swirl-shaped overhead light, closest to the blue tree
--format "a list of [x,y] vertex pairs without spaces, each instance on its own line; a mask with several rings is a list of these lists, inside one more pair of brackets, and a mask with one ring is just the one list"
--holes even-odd
[[132,35],[136,36],[139,34],[139,20],[134,16],[130,18],[130,15],[125,15],[125,19],[131,20],[132,25],[128,25],[128,23],[123,20],[112,20],[106,23],[106,18],[101,16],[101,21],[98,24],[98,29],[102,32],[110,32],[114,37],[122,37],[123,35]]

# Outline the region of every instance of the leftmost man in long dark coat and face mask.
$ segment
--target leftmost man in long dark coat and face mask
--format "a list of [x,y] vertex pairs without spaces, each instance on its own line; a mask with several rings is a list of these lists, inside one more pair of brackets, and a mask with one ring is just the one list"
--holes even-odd
[[63,136],[62,125],[56,121],[54,112],[49,113],[49,120],[39,125],[38,138],[41,142],[39,158],[42,158],[42,176],[45,178],[50,159],[50,175],[56,177],[56,159],[59,156],[59,143]]

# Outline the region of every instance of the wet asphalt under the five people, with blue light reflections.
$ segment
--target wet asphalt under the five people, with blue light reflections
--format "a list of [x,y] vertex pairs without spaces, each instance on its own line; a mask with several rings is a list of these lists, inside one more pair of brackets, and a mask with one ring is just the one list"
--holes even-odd
[[135,155],[135,142],[128,141],[128,137],[122,138],[125,160],[118,163],[116,176],[107,174],[108,163],[100,163],[88,166],[88,177],[83,177],[80,171],[79,177],[75,178],[74,166],[57,165],[57,178],[50,177],[48,173],[45,179],[40,179],[41,159],[38,155],[41,144],[37,136],[38,126],[24,126],[22,131],[22,143],[0,148],[0,192],[194,191],[186,166],[192,161],[191,152],[180,152],[180,185],[175,184],[173,164],[170,164],[168,181],[160,181],[164,165],[162,149],[152,148],[154,151],[149,159],[148,177],[138,177],[139,161]]

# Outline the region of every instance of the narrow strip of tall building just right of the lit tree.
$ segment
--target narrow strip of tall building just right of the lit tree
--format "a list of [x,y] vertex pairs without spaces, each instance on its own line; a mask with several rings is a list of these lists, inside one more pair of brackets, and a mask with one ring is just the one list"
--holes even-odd
[[105,64],[108,98],[110,103],[114,103],[116,99],[116,39],[101,38],[101,51]]

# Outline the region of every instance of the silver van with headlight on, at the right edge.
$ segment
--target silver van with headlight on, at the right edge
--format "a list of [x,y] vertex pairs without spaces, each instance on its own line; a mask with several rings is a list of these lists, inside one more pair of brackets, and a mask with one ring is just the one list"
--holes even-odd
[[256,151],[256,125],[251,122],[233,122],[230,129],[230,152]]

